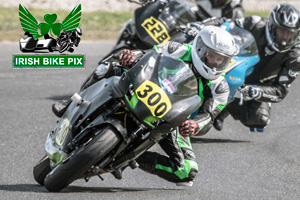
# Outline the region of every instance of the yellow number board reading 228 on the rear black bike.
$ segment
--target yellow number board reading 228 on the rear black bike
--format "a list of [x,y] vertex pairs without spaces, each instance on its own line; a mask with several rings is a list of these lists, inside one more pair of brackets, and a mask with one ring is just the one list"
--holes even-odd
[[145,19],[142,23],[142,27],[157,44],[162,44],[170,40],[170,36],[165,25],[152,16]]

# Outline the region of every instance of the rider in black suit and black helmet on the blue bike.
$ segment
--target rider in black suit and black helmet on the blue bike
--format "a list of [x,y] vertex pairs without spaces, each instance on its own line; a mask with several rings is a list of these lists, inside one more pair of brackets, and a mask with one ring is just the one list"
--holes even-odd
[[[225,20],[212,21],[218,26]],[[241,90],[248,101],[242,106],[238,100],[231,102],[216,118],[214,127],[222,130],[224,119],[231,114],[251,131],[264,131],[270,123],[271,103],[282,101],[299,75],[300,11],[290,4],[278,4],[268,18],[250,16],[235,23],[253,34],[261,60]]]

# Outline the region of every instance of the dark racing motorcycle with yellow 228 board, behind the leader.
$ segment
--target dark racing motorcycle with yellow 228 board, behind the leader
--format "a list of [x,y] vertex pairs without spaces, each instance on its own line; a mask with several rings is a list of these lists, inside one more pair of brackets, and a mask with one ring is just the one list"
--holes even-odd
[[[169,41],[185,42],[188,35],[176,31],[181,25],[196,21],[191,8],[179,0],[128,0],[140,4],[120,31],[112,51],[122,49],[150,49]],[[105,57],[106,58],[106,57]]]

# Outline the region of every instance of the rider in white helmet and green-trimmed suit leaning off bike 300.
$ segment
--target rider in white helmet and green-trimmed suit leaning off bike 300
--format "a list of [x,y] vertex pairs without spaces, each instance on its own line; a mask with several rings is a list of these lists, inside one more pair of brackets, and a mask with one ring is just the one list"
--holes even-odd
[[[189,64],[198,79],[202,105],[193,119],[179,126],[179,133],[174,131],[159,142],[168,156],[147,151],[137,162],[144,171],[175,182],[178,186],[192,186],[198,165],[189,136],[205,134],[209,129],[202,128],[211,123],[213,116],[226,104],[229,88],[222,73],[238,49],[228,32],[213,26],[201,30],[193,46],[171,41],[154,48],[163,55]],[[125,58],[124,62],[132,62],[133,56],[126,54],[120,58]]]

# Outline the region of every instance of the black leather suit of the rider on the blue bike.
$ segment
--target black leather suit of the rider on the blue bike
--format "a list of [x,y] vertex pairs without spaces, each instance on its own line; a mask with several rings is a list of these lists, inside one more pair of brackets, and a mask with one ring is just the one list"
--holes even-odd
[[224,120],[230,113],[234,119],[240,120],[250,128],[263,128],[270,122],[271,103],[280,102],[288,94],[288,88],[299,75],[300,47],[268,55],[265,48],[268,46],[265,27],[266,18],[250,16],[236,20],[241,27],[250,31],[257,43],[260,62],[254,67],[253,73],[247,77],[245,84],[257,85],[262,91],[258,100],[244,102],[238,105],[238,100],[225,107],[217,117]]

